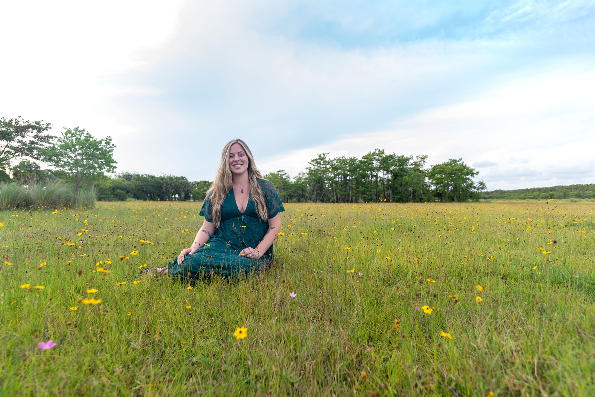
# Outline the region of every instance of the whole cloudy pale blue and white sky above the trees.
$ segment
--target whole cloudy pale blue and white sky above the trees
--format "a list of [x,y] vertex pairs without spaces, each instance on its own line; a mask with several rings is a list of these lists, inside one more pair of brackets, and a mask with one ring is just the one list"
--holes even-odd
[[0,2],[0,117],[212,180],[318,153],[461,158],[488,190],[595,183],[595,2]]

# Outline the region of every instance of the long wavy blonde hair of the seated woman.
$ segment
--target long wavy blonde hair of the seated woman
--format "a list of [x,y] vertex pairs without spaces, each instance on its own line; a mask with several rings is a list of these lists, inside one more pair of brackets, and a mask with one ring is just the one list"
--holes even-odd
[[265,203],[262,189],[258,183],[258,179],[264,178],[262,178],[262,174],[258,171],[258,168],[256,168],[254,157],[252,157],[252,152],[250,152],[250,148],[246,142],[241,139],[233,139],[223,147],[217,175],[215,175],[215,180],[206,192],[206,199],[211,199],[211,217],[213,223],[215,223],[215,229],[221,224],[221,204],[223,204],[223,200],[227,197],[227,193],[233,188],[233,183],[231,182],[231,170],[229,168],[229,153],[231,145],[235,143],[242,146],[244,152],[248,156],[248,181],[250,183],[252,200],[256,204],[256,213],[258,213],[259,218],[262,220],[268,220],[267,203]]

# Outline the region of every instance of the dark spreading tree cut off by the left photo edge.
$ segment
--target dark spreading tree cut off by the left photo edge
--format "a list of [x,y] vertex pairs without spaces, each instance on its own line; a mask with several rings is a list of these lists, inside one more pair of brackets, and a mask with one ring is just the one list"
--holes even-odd
[[5,171],[18,157],[39,160],[40,150],[55,138],[46,134],[50,129],[51,124],[43,121],[0,118],[0,170]]

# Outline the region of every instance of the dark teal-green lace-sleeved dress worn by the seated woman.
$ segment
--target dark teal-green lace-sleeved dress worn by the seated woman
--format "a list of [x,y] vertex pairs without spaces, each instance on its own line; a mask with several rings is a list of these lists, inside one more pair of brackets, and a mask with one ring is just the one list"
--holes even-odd
[[[283,204],[271,182],[266,179],[259,179],[258,182],[267,203],[268,217],[273,218],[285,210]],[[199,215],[212,222],[209,197],[202,203]],[[178,264],[177,259],[170,261],[168,273],[173,276],[195,278],[211,272],[222,275],[248,275],[260,272],[273,260],[273,245],[259,259],[240,256],[240,252],[244,248],[255,248],[267,231],[268,221],[258,217],[252,193],[248,198],[246,210],[242,212],[237,207],[231,189],[221,204],[220,226],[215,229],[209,241],[194,254],[187,255],[182,263]]]

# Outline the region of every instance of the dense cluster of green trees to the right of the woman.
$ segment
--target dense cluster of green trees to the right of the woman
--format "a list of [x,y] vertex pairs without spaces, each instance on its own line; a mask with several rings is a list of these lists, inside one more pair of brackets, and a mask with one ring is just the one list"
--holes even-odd
[[395,155],[383,149],[361,158],[328,155],[319,154],[295,178],[283,170],[264,177],[286,202],[468,201],[478,200],[486,189],[483,181],[473,181],[479,173],[462,159],[427,166],[427,155]]

